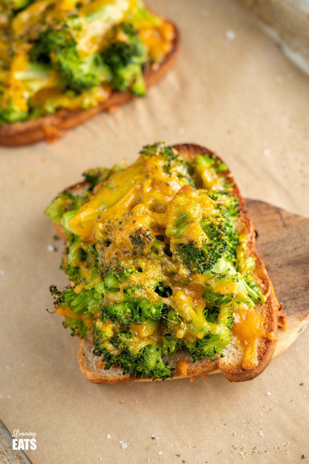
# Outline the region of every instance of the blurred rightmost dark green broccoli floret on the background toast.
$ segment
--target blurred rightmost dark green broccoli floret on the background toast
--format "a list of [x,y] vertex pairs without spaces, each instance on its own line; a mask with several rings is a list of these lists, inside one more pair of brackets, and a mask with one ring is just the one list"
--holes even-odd
[[130,88],[134,95],[145,95],[143,65],[147,61],[147,51],[132,24],[118,26],[116,41],[101,56],[111,71],[113,89],[125,92]]

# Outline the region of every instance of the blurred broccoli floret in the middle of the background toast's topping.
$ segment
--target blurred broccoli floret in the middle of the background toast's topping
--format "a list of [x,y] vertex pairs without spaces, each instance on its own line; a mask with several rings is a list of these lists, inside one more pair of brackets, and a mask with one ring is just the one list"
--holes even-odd
[[110,78],[99,53],[86,58],[79,56],[76,40],[66,26],[59,29],[49,27],[41,32],[29,56],[32,61],[50,61],[59,71],[63,84],[76,92],[100,85]]

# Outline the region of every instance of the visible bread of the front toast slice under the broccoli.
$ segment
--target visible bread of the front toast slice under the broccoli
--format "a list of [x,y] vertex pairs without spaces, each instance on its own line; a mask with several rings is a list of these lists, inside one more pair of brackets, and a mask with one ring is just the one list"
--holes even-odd
[[[214,155],[213,152],[207,148],[203,148],[194,144],[180,144],[174,145],[174,149],[183,156],[184,159],[192,161],[196,155],[199,154],[209,154]],[[221,161],[217,157],[218,161]],[[240,205],[240,227],[241,232],[246,235],[248,240],[248,256],[256,259],[256,270],[254,275],[254,280],[256,283],[263,289],[264,295],[267,296],[267,301],[265,303],[258,304],[254,312],[262,321],[264,327],[264,333],[267,333],[267,336],[258,336],[258,333],[252,333],[253,344],[256,348],[256,357],[258,364],[254,368],[248,368],[244,365],[244,357],[248,347],[246,344],[240,343],[239,333],[240,331],[233,334],[232,328],[232,339],[231,343],[223,349],[222,353],[225,354],[225,357],[220,357],[216,355],[215,361],[210,359],[202,359],[196,362],[192,362],[191,357],[186,351],[178,350],[173,354],[169,354],[164,357],[164,361],[168,361],[170,367],[174,368],[173,371],[174,379],[183,378],[183,377],[194,377],[194,376],[203,376],[214,372],[222,372],[222,374],[230,381],[244,381],[252,380],[257,375],[259,375],[268,363],[271,360],[271,356],[274,352],[275,343],[277,341],[277,327],[278,327],[278,316],[282,317],[280,313],[280,305],[277,301],[274,289],[272,287],[270,278],[267,274],[265,264],[259,258],[258,253],[255,250],[255,232],[253,225],[248,217],[246,211],[246,205],[244,200],[241,197],[240,191],[237,185],[234,183],[233,176],[229,170],[225,172],[225,177],[229,183],[233,183],[232,195],[237,197]],[[69,190],[73,194],[81,194],[86,190],[88,184],[83,182],[76,184],[73,187],[70,187]],[[59,226],[56,225],[58,234],[65,238],[63,232]],[[239,322],[241,324],[248,324],[249,321]],[[237,325],[235,322],[234,326]],[[250,328],[249,328],[250,329]],[[262,334],[263,335],[263,334]],[[248,338],[248,337],[247,337]],[[287,343],[287,346],[290,343]],[[97,356],[92,353],[93,345],[91,340],[81,339],[79,349],[78,349],[78,361],[82,373],[85,377],[94,383],[117,383],[117,382],[126,382],[136,380],[134,378],[129,378],[128,374],[123,375],[122,370],[113,366],[109,370],[104,369],[104,362],[100,361]],[[281,343],[282,350],[282,343]],[[151,379],[138,379],[138,380],[151,380]]]

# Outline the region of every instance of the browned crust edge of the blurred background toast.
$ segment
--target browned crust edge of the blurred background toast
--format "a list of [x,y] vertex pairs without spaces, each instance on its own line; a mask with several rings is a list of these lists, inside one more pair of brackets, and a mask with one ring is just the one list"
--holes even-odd
[[[179,50],[179,31],[177,26],[168,21],[174,29],[172,49],[158,69],[150,68],[145,71],[144,79],[146,87],[157,84],[157,82],[170,71],[174,65]],[[6,147],[20,147],[30,145],[46,139],[53,142],[63,136],[67,130],[78,126],[101,111],[113,111],[122,104],[135,98],[130,91],[114,91],[106,102],[89,108],[88,110],[57,110],[54,115],[40,117],[33,121],[13,122],[0,126],[0,145]]]

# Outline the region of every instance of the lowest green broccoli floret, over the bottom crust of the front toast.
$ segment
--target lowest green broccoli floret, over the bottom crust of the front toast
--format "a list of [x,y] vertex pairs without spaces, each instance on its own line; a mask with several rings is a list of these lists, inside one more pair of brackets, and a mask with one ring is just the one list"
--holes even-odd
[[119,364],[123,374],[129,374],[130,378],[134,376],[136,379],[140,377],[168,379],[173,377],[173,374],[169,363],[162,361],[162,354],[162,346],[157,344],[145,346],[137,353],[125,349],[115,356],[107,352],[104,354],[105,369]]

